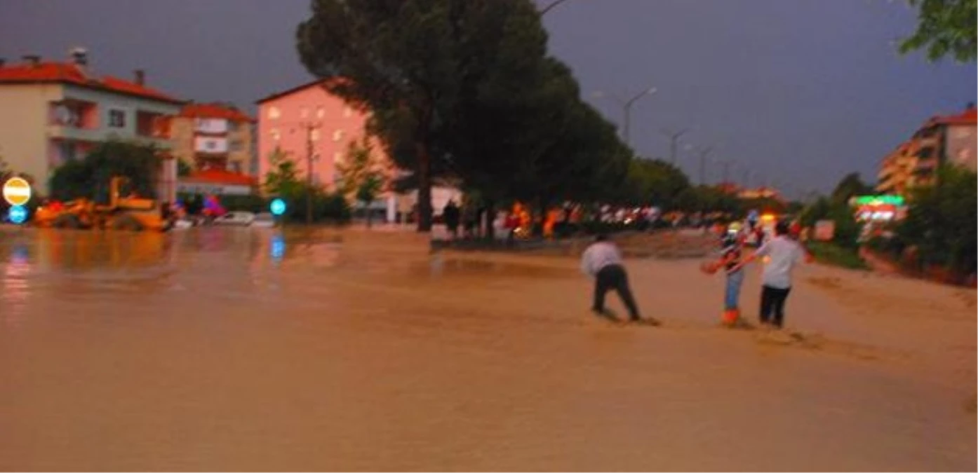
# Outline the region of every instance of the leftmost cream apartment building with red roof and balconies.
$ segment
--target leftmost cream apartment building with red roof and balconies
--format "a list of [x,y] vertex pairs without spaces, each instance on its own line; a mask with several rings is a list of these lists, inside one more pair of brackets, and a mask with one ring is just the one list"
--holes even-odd
[[[136,70],[130,80],[96,76],[88,54],[74,50],[68,62],[0,61],[0,155],[30,175],[42,194],[58,166],[85,156],[99,143],[121,140],[169,151],[171,119],[182,102],[147,86]],[[157,194],[176,193],[176,162],[164,159]]]

